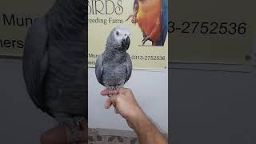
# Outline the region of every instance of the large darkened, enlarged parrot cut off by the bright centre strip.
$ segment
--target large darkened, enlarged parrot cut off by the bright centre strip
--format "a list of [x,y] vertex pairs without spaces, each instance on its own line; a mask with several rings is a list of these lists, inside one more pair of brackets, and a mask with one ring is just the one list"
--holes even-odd
[[78,139],[87,120],[87,6],[84,0],[56,0],[26,35],[23,77],[34,104]]

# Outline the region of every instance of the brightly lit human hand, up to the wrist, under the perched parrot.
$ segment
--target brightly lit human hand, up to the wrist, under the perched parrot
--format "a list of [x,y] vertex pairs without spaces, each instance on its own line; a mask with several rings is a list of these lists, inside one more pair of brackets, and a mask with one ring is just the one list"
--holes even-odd
[[109,96],[105,108],[109,109],[113,105],[115,113],[121,114],[131,128],[134,127],[133,125],[138,121],[138,118],[144,115],[130,89],[119,88],[111,93],[109,90],[102,90],[101,94],[102,96]]

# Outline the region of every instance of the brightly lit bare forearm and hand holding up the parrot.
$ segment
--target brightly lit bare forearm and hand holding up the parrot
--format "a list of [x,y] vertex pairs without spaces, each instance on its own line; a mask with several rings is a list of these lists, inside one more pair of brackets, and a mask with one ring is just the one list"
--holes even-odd
[[[102,95],[109,95],[109,90],[103,90]],[[106,101],[105,108],[114,105],[115,112],[126,118],[128,125],[135,130],[140,144],[167,144],[166,139],[154,126],[146,114],[142,112],[140,106],[134,98],[134,94],[129,89],[121,88],[112,92]]]

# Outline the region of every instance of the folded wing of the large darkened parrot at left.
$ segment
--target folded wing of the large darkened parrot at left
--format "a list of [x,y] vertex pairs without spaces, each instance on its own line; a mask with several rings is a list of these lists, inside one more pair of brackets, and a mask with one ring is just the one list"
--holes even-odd
[[49,113],[45,106],[43,81],[48,66],[47,41],[48,33],[45,19],[38,19],[38,21],[30,26],[26,34],[22,69],[26,90],[32,102],[43,112]]

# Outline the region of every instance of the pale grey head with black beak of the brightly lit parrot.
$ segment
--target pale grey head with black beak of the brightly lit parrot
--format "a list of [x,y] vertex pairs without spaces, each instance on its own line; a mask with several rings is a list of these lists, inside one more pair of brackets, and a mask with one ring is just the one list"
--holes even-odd
[[128,50],[130,46],[130,30],[127,26],[116,26],[111,30],[107,39],[107,46],[115,50]]

